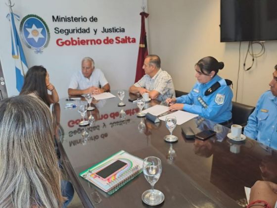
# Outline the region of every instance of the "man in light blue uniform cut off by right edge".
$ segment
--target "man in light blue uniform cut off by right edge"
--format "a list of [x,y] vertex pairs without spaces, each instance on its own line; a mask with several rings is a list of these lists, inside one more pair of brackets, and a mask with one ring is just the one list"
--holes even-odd
[[259,99],[244,128],[244,135],[277,149],[277,65],[274,67],[270,91]]

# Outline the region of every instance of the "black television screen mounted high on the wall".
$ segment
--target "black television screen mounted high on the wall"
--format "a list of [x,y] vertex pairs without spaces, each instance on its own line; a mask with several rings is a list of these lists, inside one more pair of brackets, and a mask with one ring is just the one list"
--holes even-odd
[[220,42],[277,40],[277,0],[221,0]]

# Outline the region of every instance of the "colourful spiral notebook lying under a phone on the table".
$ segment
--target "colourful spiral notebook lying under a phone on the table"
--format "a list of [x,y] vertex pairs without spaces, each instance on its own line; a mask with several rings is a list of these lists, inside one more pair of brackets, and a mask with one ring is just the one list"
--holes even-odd
[[[115,167],[115,163],[120,163],[120,166]],[[142,159],[121,150],[81,172],[79,175],[111,195],[139,175],[139,173],[142,172],[142,164]],[[103,176],[100,174],[107,169],[114,168],[117,169],[112,170],[113,172],[110,175],[105,174],[105,176]]]

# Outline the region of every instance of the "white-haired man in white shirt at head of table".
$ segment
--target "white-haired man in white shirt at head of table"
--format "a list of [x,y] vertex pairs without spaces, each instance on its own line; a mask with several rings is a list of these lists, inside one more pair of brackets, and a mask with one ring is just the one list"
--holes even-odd
[[[101,88],[100,88],[101,87]],[[82,70],[79,70],[71,78],[68,95],[76,96],[83,94],[97,95],[110,91],[110,85],[100,69],[95,69],[91,57],[82,60]]]

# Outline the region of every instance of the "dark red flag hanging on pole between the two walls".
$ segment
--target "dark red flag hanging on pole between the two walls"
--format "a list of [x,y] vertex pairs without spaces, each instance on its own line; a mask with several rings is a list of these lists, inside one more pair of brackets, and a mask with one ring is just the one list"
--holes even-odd
[[139,55],[137,62],[137,72],[135,82],[138,82],[141,77],[143,77],[144,70],[142,69],[144,58],[148,55],[147,50],[147,42],[146,42],[146,32],[145,32],[145,18],[148,17],[149,14],[143,12],[139,13],[141,15],[141,28],[140,28],[140,40],[139,40]]

